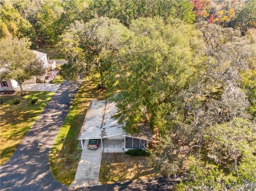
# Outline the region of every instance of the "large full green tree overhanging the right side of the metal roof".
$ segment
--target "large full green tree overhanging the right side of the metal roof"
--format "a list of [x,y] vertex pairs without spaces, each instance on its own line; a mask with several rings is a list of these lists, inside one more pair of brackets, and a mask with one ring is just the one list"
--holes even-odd
[[130,28],[135,37],[115,64],[117,83],[109,85],[120,90],[115,97],[119,119],[126,121],[127,131],[138,131],[141,122],[170,128],[160,113],[172,111],[174,97],[195,77],[203,48],[200,32],[178,19],[165,24],[161,18],[133,20]]

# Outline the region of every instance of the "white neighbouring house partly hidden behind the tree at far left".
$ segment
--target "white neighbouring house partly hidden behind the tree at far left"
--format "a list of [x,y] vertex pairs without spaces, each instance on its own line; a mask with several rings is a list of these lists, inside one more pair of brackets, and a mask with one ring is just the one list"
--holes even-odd
[[[49,64],[48,60],[47,60],[47,54],[42,53],[42,52],[38,52],[38,51],[33,51],[36,54],[36,57],[38,59],[38,61],[42,61],[44,63],[44,67],[50,67],[50,68],[55,68],[55,64]],[[0,72],[3,72],[5,70],[5,68],[1,68]],[[46,73],[45,73],[46,74]],[[45,75],[39,78],[44,79]],[[36,76],[31,77],[31,79],[25,81],[27,83],[36,83]],[[0,90],[1,91],[14,91],[15,88],[17,88],[19,86],[18,82],[13,80],[13,79],[2,79],[1,80],[1,87]]]

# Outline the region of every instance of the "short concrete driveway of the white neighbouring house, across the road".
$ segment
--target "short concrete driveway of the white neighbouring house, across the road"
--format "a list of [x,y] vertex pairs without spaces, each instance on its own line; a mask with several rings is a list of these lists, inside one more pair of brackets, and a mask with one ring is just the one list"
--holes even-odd
[[[24,91],[45,91],[45,92],[56,92],[57,89],[60,87],[60,84],[30,84],[30,83],[23,83],[22,88]],[[20,90],[18,86],[16,90]]]

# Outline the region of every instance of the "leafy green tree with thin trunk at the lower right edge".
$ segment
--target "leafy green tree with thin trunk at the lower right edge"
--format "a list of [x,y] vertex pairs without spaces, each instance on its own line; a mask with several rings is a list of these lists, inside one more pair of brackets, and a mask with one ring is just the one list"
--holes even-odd
[[210,139],[208,156],[215,162],[225,164],[233,160],[234,170],[239,176],[239,157],[253,155],[256,151],[256,124],[235,118],[230,122],[209,127],[206,134]]

